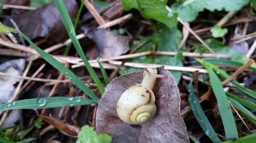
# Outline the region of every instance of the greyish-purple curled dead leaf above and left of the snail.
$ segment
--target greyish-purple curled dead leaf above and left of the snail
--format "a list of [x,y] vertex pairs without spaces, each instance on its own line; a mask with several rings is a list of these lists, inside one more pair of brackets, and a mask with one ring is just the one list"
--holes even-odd
[[93,33],[93,40],[101,58],[118,56],[130,50],[129,37],[117,35],[102,28]]

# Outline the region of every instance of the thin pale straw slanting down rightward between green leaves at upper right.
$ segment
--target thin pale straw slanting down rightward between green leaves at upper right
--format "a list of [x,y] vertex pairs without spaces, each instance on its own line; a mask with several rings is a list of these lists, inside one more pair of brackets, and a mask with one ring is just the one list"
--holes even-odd
[[[172,12],[172,10],[167,5],[165,6],[165,8],[167,11]],[[190,27],[187,26],[182,19],[180,19],[179,17],[177,17],[177,19],[185,28],[187,28],[187,30],[191,34],[193,34],[198,39],[198,41],[200,41],[212,54],[215,55],[216,58],[218,58],[217,54]]]

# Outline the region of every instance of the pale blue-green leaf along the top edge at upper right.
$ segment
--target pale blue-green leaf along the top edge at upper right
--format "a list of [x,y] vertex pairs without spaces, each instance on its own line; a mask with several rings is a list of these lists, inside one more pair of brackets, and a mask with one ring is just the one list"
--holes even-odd
[[172,5],[172,9],[178,13],[182,20],[191,22],[197,18],[199,12],[205,9],[211,12],[223,9],[227,12],[238,11],[249,2],[250,0],[183,0]]

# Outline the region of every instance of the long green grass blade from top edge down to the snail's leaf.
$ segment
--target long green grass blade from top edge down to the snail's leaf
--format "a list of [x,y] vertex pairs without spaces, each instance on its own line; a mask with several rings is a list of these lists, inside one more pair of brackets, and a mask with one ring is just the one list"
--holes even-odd
[[75,30],[74,30],[74,26],[72,24],[71,18],[69,16],[69,13],[65,7],[65,4],[63,1],[59,1],[59,0],[54,0],[54,3],[60,13],[60,16],[63,20],[63,23],[66,27],[66,30],[69,34],[69,37],[72,41],[72,43],[74,44],[77,53],[79,54],[80,58],[82,59],[84,65],[86,66],[88,72],[90,73],[90,75],[92,76],[92,79],[94,80],[94,82],[97,84],[99,92],[101,95],[103,95],[104,93],[104,87],[103,84],[101,83],[101,81],[99,80],[97,74],[95,73],[95,71],[93,70],[93,68],[91,67],[90,63],[88,62],[86,56],[84,55],[81,45],[79,44],[77,38],[76,38],[76,34],[75,34]]

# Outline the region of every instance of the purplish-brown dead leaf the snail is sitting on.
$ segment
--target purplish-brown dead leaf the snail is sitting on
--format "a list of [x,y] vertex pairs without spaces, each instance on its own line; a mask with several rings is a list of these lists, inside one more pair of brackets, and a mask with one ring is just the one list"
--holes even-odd
[[142,81],[143,71],[124,74],[113,79],[101,98],[96,113],[96,131],[107,132],[115,142],[189,142],[186,126],[180,116],[180,94],[174,77],[164,68],[158,73],[156,87],[157,113],[152,121],[141,125],[122,122],[116,112],[121,94],[135,83]]

